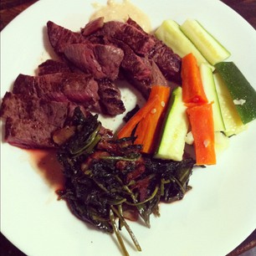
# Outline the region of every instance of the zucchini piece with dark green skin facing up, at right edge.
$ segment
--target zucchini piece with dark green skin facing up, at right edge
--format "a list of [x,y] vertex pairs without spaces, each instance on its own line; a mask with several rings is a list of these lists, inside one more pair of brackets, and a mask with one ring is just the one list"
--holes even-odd
[[233,62],[220,62],[215,69],[227,85],[243,124],[256,119],[256,91]]

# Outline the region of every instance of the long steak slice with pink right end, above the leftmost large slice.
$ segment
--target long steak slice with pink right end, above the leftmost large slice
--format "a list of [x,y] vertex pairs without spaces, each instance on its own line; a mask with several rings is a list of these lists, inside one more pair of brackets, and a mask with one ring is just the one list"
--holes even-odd
[[98,108],[98,84],[91,75],[82,73],[55,73],[39,76],[19,74],[13,93],[36,95],[45,100],[70,101],[84,107]]

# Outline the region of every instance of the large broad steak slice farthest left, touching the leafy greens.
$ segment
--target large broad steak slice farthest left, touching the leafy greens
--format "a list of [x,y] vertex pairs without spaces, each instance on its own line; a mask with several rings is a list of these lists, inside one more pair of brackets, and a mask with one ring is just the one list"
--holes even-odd
[[7,92],[0,110],[6,119],[5,140],[22,148],[54,147],[52,133],[64,126],[73,111],[74,106],[69,102]]

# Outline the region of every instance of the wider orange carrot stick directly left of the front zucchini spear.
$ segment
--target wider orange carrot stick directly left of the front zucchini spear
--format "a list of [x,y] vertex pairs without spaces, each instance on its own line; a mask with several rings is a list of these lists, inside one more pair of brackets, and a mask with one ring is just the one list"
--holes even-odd
[[151,94],[149,100],[159,96],[154,108],[147,113],[146,117],[140,121],[136,128],[136,141],[135,144],[142,144],[142,151],[145,153],[152,153],[154,150],[157,134],[161,124],[161,118],[166,110],[171,94],[171,88],[164,85],[153,85],[151,87]]

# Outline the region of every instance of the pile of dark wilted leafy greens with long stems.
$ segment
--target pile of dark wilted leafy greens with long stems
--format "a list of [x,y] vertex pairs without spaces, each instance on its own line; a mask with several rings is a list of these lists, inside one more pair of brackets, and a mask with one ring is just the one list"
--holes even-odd
[[[136,248],[141,250],[124,212],[132,208],[150,227],[152,213],[159,215],[159,202],[181,200],[190,187],[194,160],[163,161],[142,155],[134,138],[117,140],[105,136],[97,115],[84,117],[77,108],[72,125],[74,136],[59,148],[57,157],[64,167],[65,188],[59,197],[65,199],[75,216],[107,233],[125,227]],[[103,131],[102,131],[103,130]],[[126,253],[123,242],[121,248]]]

